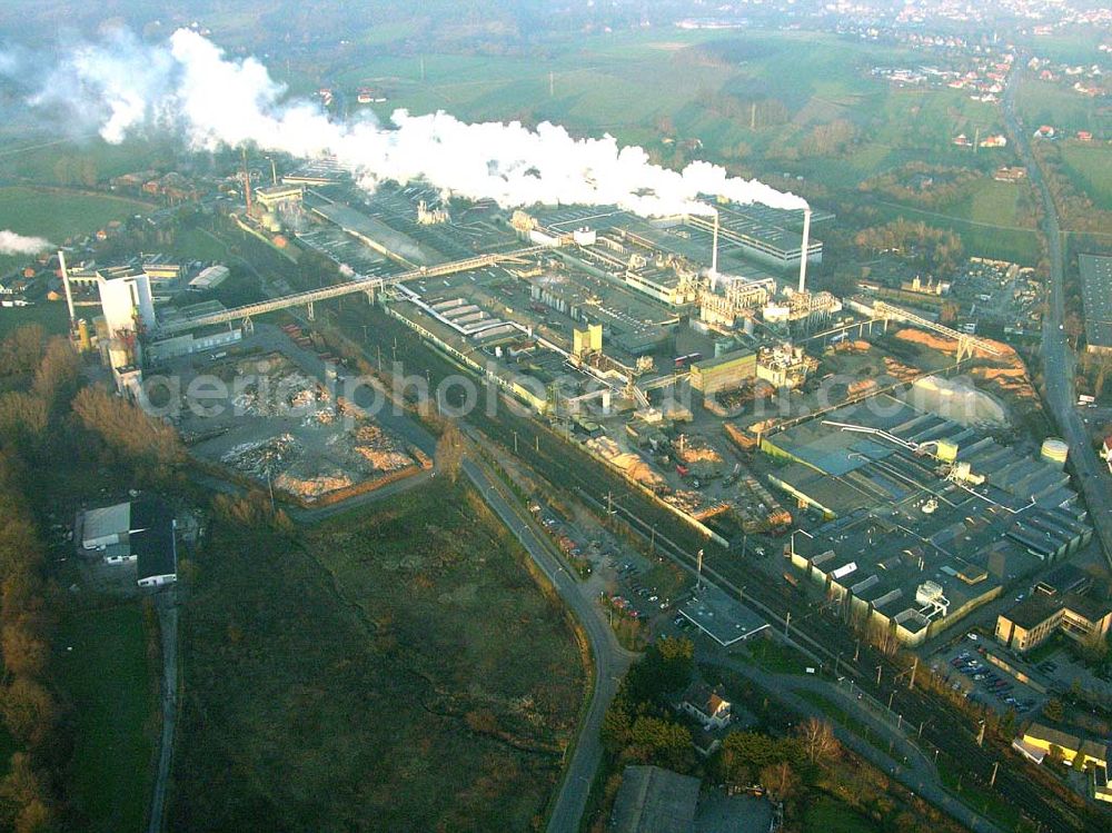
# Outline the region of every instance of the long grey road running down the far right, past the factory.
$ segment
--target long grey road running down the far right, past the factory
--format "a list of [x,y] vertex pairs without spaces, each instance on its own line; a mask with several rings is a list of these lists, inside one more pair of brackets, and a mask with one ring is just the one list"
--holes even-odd
[[[1015,67],[1025,63],[1017,58]],[[1066,343],[1062,324],[1065,320],[1065,262],[1062,256],[1062,229],[1058,207],[1046,185],[1042,169],[1031,152],[1030,126],[1024,126],[1015,112],[1015,89],[1021,70],[1013,69],[1004,91],[1004,121],[1020,158],[1027,169],[1031,182],[1039,189],[1043,204],[1043,234],[1050,254],[1051,296],[1048,315],[1043,319],[1042,357],[1045,377],[1046,404],[1054,416],[1063,438],[1070,445],[1070,460],[1076,472],[1076,485],[1089,506],[1090,520],[1100,539],[1104,558],[1112,567],[1112,477],[1101,464],[1089,442],[1089,434],[1074,406],[1073,389],[1075,356]],[[1078,310],[1079,313],[1081,310]]]

